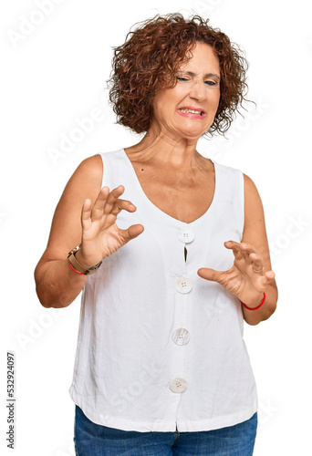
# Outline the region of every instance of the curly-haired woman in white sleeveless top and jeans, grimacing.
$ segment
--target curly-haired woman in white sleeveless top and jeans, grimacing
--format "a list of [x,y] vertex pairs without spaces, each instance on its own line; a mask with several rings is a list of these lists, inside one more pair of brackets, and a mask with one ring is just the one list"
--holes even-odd
[[83,289],[69,390],[79,455],[253,453],[243,321],[277,299],[264,212],[253,181],[196,150],[229,128],[245,68],[199,16],[156,16],[115,49],[110,100],[146,134],[78,166],[36,266],[45,307]]

